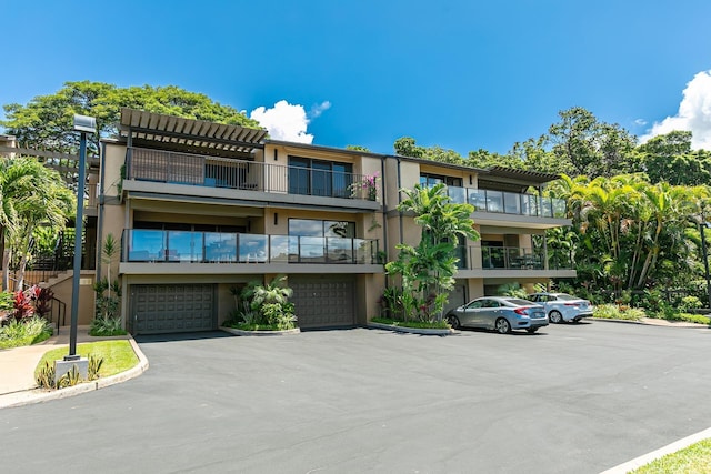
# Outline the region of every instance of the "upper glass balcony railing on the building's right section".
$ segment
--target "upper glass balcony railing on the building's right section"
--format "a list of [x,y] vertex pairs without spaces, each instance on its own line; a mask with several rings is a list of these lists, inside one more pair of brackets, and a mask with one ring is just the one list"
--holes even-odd
[[447,186],[452,202],[472,204],[477,211],[539,218],[565,218],[565,201],[533,194]]

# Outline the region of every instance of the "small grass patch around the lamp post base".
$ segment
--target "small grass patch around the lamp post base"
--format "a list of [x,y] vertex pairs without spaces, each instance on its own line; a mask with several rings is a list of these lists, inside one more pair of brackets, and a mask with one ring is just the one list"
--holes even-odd
[[[37,374],[38,370],[44,366],[46,361],[49,361],[49,363],[52,364],[53,361],[63,359],[68,353],[68,347],[60,347],[46,352],[42,360],[37,364],[34,373]],[[136,352],[133,352],[131,343],[127,340],[77,344],[77,353],[82,357],[88,357],[89,354],[93,354],[97,357],[103,357],[103,364],[101,365],[100,371],[102,377],[128,371],[138,364],[138,356],[136,355]]]

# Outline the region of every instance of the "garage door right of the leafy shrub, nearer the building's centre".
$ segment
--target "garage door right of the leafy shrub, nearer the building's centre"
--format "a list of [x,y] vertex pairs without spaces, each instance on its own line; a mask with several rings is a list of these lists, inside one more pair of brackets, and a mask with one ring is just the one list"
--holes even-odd
[[301,329],[356,324],[356,282],[352,278],[289,276],[298,324]]

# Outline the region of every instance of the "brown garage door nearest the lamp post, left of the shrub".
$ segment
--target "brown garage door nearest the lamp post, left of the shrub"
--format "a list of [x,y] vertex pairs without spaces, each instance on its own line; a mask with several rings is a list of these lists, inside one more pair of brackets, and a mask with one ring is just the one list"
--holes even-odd
[[211,331],[214,285],[132,285],[131,316],[134,334]]

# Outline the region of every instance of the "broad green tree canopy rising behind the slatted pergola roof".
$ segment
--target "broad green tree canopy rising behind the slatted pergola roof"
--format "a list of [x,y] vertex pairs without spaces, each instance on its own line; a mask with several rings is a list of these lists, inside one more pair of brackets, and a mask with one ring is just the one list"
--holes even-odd
[[99,139],[118,133],[122,107],[259,128],[257,121],[242,112],[176,85],[119,88],[91,81],[66,82],[56,93],[38,95],[26,105],[6,104],[6,120],[0,121],[0,125],[23,145],[74,153],[79,148],[79,135],[73,131],[73,115],[94,117],[98,133],[89,138],[88,145],[90,152],[97,154]]

